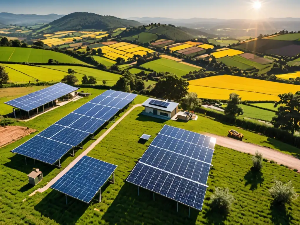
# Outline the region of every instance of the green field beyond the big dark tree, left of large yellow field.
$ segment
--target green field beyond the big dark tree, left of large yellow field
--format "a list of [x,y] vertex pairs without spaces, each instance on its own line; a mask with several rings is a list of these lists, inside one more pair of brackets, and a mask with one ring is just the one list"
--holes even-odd
[[181,77],[189,73],[190,71],[199,70],[198,68],[178,63],[174,60],[167,58],[160,58],[154,61],[142,64],[143,67],[150,68],[156,72],[170,72]]

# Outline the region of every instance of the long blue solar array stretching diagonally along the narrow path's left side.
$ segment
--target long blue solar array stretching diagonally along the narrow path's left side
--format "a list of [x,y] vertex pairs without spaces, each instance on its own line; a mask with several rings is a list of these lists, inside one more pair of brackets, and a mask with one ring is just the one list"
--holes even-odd
[[108,90],[26,141],[12,152],[54,164],[72,147],[97,131],[136,94]]

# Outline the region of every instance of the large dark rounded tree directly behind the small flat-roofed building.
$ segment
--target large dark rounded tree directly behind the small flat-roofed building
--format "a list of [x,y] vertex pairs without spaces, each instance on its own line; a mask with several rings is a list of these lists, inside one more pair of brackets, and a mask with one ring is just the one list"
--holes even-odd
[[189,83],[175,74],[165,74],[153,88],[153,95],[179,101],[188,93]]

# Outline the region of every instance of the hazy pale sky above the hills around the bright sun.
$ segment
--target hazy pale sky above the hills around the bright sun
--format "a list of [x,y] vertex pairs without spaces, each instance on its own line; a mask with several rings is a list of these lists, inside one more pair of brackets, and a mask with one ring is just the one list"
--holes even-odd
[[93,12],[100,15],[128,17],[256,19],[300,17],[300,0],[0,0],[1,12],[16,14],[69,14]]

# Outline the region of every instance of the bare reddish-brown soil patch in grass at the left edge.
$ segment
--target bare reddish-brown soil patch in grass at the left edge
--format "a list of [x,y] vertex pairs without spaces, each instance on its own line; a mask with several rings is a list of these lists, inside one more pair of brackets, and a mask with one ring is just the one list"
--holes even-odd
[[0,127],[0,147],[3,147],[9,143],[12,143],[16,140],[21,139],[31,133],[34,133],[36,130],[21,126],[6,126]]

